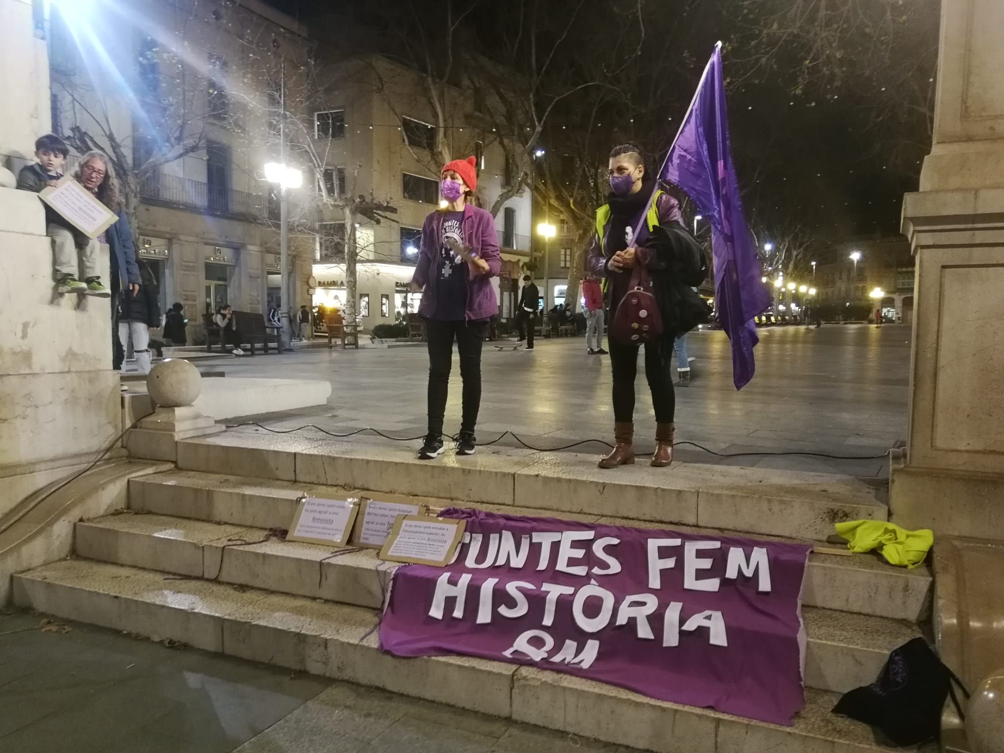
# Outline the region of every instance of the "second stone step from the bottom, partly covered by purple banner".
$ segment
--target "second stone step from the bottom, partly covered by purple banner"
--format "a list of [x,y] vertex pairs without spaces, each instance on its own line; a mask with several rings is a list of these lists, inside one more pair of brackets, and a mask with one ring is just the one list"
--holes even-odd
[[[260,528],[162,515],[110,515],[78,523],[80,557],[379,609],[394,565],[374,550],[267,540]],[[260,543],[244,546],[242,542]],[[893,649],[919,635],[905,621],[830,609],[802,610],[805,684],[845,693],[868,685]]]

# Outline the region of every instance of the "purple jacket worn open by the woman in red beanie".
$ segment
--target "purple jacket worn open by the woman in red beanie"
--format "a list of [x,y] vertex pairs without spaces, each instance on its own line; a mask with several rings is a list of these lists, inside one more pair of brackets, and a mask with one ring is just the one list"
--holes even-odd
[[[422,285],[422,303],[419,304],[419,316],[431,318],[436,313],[436,285],[430,285],[430,270],[435,270],[439,263],[440,247],[443,239],[443,217],[445,212],[433,212],[426,218],[422,226],[422,249],[419,251],[419,262],[415,268],[412,282]],[[464,245],[488,263],[488,273],[475,275],[467,265],[467,306],[464,316],[467,319],[487,319],[499,312],[498,298],[489,277],[497,277],[502,268],[499,256],[499,236],[495,230],[495,218],[490,212],[472,207],[464,207]]]

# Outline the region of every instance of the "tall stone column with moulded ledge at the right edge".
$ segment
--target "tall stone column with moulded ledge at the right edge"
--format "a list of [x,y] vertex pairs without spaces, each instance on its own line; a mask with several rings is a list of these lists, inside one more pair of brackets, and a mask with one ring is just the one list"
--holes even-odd
[[943,0],[934,146],[904,201],[917,259],[893,519],[1004,537],[1004,3]]

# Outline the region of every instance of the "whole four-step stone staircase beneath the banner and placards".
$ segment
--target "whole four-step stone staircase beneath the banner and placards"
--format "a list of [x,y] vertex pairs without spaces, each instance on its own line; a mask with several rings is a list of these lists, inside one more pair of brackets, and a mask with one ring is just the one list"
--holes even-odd
[[926,569],[810,555],[806,707],[793,727],[779,727],[532,667],[382,654],[378,615],[394,565],[372,550],[269,531],[289,525],[302,494],[360,490],[422,495],[434,507],[466,500],[497,512],[801,540],[822,540],[833,520],[886,516],[873,490],[835,476],[687,465],[600,473],[590,457],[494,448],[421,463],[410,447],[231,431],[179,442],[176,470],[132,479],[129,509],[78,523],[76,558],[16,575],[14,597],[67,618],[660,753],[887,750],[830,709],[920,635],[931,601]]

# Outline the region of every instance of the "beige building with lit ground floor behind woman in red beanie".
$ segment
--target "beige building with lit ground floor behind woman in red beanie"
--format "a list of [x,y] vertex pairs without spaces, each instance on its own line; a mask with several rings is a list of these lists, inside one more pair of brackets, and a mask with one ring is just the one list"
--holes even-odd
[[[418,310],[421,294],[409,294],[422,226],[440,206],[440,170],[433,164],[433,104],[421,75],[373,55],[332,64],[323,101],[312,113],[316,190],[336,197],[371,197],[391,209],[383,217],[354,218],[358,246],[356,312],[364,330],[394,323],[403,309]],[[477,159],[477,203],[491,209],[514,179],[505,151],[478,111],[477,97],[462,83],[448,94],[447,149],[455,158]],[[322,208],[316,239],[312,302],[345,303],[345,212],[336,202]],[[499,315],[514,314],[520,265],[530,256],[530,191],[506,201],[495,215],[502,272],[497,280]]]

